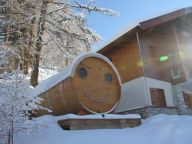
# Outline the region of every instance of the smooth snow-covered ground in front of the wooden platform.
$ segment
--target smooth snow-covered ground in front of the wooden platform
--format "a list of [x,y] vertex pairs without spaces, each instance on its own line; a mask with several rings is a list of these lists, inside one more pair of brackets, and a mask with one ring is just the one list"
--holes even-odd
[[38,118],[38,134],[20,134],[18,144],[192,144],[192,116],[157,115],[136,128],[67,131],[59,117]]

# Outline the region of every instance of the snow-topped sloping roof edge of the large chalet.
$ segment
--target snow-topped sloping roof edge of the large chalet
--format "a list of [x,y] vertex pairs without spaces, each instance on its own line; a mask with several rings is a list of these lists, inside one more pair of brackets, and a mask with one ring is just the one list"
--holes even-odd
[[131,24],[127,28],[123,29],[119,34],[115,35],[111,40],[109,40],[100,49],[98,49],[97,52],[101,52],[101,50],[105,49],[107,46],[111,45],[112,43],[115,43],[125,35],[129,35],[133,31],[139,29],[145,30],[191,13],[192,13],[192,7],[187,7],[160,13],[150,18],[145,18],[144,20],[141,20],[139,22],[135,22],[134,24]]

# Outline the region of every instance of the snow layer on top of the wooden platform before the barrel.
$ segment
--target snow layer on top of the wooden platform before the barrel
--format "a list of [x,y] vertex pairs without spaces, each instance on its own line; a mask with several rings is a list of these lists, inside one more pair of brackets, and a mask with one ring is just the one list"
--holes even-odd
[[90,114],[90,115],[75,115],[75,114],[66,114],[63,116],[58,116],[57,120],[65,119],[141,119],[141,116],[138,114],[127,114],[127,115],[117,115],[117,114]]

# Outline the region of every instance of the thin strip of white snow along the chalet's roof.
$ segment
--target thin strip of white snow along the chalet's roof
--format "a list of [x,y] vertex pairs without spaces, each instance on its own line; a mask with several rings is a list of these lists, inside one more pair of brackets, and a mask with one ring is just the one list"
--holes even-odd
[[104,45],[102,45],[100,48],[97,49],[97,51],[103,49],[104,47],[106,47],[107,45],[109,45],[110,43],[112,43],[113,41],[117,40],[119,37],[123,36],[124,34],[126,34],[127,32],[129,32],[130,30],[140,26],[140,23],[145,22],[147,20],[153,19],[153,18],[158,18],[160,16],[178,11],[178,10],[182,10],[185,9],[186,13],[188,11],[188,9],[192,9],[192,7],[186,7],[186,8],[175,8],[172,10],[167,10],[167,11],[163,11],[157,14],[152,14],[151,16],[142,18],[138,21],[135,21],[133,23],[130,23],[128,26],[126,26],[125,28],[123,28],[119,33],[117,33],[115,36],[113,36],[109,41],[107,41]]

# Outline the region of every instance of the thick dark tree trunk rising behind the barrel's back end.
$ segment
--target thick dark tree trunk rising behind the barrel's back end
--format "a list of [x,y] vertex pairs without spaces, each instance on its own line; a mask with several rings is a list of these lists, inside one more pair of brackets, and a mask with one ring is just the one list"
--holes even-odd
[[48,5],[47,0],[43,0],[42,6],[41,6],[41,11],[40,11],[40,19],[39,19],[38,28],[37,28],[37,40],[36,40],[36,45],[35,45],[33,71],[32,71],[32,75],[31,75],[31,85],[32,86],[38,85],[39,61],[40,61],[40,55],[41,55],[41,50],[42,50],[47,5]]

